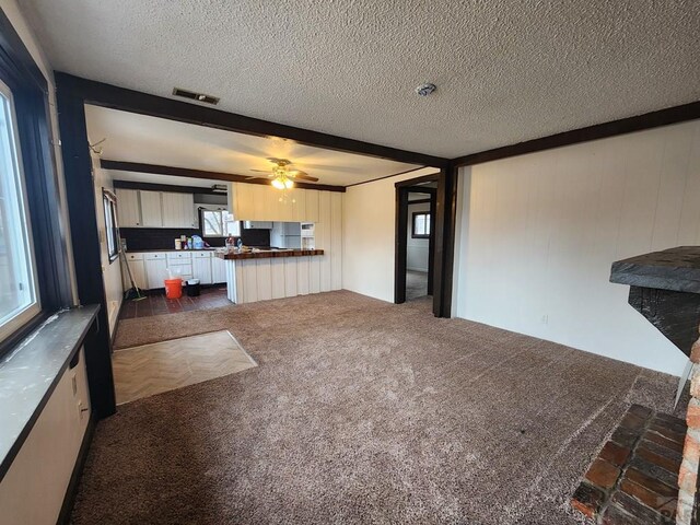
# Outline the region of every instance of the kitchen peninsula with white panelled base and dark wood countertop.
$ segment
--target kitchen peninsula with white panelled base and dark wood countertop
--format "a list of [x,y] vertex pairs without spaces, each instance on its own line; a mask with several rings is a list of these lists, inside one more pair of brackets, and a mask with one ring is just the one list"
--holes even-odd
[[322,291],[323,249],[250,249],[222,253],[229,301],[243,304]]

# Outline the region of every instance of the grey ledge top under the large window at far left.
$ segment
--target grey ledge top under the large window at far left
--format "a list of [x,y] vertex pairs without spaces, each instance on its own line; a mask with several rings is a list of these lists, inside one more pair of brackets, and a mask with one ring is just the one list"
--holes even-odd
[[100,305],[59,312],[0,360],[0,479],[79,351]]

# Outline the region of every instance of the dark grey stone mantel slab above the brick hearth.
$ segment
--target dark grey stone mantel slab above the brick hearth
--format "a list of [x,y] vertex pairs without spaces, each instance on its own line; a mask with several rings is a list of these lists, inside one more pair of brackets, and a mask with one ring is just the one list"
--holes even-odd
[[679,246],[612,262],[610,282],[700,293],[700,246]]

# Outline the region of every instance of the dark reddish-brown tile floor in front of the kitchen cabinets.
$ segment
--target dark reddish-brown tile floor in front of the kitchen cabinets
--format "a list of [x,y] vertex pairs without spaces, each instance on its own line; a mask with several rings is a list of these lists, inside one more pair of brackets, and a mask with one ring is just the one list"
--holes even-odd
[[152,315],[176,314],[195,310],[218,308],[232,304],[226,299],[225,287],[203,288],[198,298],[188,298],[184,291],[180,299],[167,299],[165,292],[154,292],[142,301],[125,301],[120,319],[150,317]]

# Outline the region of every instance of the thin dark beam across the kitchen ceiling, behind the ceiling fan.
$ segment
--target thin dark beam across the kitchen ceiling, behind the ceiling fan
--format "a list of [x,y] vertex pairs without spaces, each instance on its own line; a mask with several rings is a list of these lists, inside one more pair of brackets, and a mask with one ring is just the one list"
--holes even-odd
[[[235,173],[208,172],[205,170],[190,170],[187,167],[162,166],[159,164],[144,164],[141,162],[109,161],[100,160],[100,167],[103,170],[115,170],[118,172],[150,173],[154,175],[171,175],[175,177],[202,178],[206,180],[224,180],[226,183],[264,184],[269,186],[270,179],[257,177],[255,175],[238,175]],[[301,189],[318,189],[323,191],[345,192],[343,186],[331,186],[328,184],[300,183],[294,180],[294,187]]]

